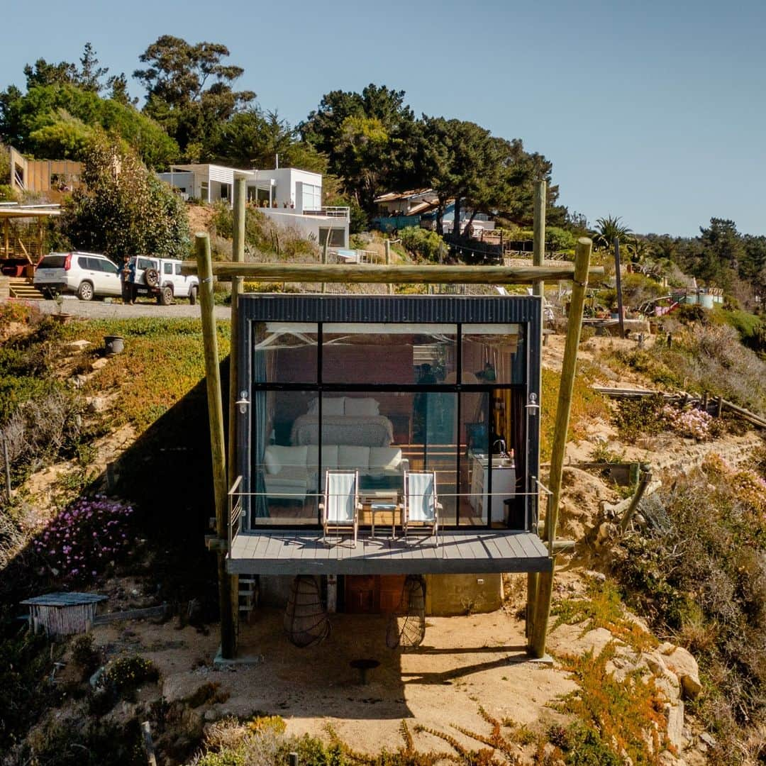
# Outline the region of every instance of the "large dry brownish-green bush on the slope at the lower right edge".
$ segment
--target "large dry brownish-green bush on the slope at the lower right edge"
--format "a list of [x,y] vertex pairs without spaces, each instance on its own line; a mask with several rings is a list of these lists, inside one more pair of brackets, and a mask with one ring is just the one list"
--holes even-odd
[[650,523],[614,568],[655,632],[696,653],[706,695],[692,709],[720,740],[718,762],[766,725],[764,498],[756,473],[709,457],[643,501]]

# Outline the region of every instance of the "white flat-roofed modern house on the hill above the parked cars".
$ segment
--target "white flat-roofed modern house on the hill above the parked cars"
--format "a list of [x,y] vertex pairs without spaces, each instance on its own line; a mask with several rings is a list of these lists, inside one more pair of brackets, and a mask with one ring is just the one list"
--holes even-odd
[[247,179],[247,200],[284,227],[330,247],[349,247],[349,208],[322,205],[322,175],[297,168],[238,170],[224,165],[172,165],[158,173],[184,195],[231,205],[235,176]]

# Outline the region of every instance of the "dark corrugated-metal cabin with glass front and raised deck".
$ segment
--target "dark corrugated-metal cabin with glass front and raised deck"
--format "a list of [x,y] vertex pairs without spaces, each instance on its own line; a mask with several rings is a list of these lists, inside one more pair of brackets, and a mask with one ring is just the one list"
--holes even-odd
[[[498,607],[486,588],[502,572],[551,572],[537,534],[541,316],[526,295],[240,296],[228,574],[277,598],[313,575],[356,612],[387,611],[422,575],[427,610],[450,614],[482,587]],[[358,476],[355,535],[322,529],[332,470]],[[404,534],[417,472],[435,478],[437,534]]]

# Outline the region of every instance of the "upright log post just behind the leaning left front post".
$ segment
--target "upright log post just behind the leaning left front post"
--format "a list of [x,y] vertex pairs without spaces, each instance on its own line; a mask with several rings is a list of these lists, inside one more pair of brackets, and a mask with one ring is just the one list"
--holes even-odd
[[[245,202],[247,201],[247,178],[234,175],[234,231],[231,260],[244,264]],[[237,405],[239,396],[239,296],[242,294],[242,277],[231,277],[231,349],[229,350],[229,434],[228,434],[228,483],[237,480]],[[231,523],[231,520],[229,521]],[[239,634],[239,575],[231,575],[231,614],[234,627],[233,648],[237,650]]]

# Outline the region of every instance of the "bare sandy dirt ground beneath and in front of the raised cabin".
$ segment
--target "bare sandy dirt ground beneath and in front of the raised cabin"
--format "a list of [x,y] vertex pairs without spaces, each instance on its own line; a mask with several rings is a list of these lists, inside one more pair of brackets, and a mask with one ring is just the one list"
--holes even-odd
[[[479,705],[499,719],[534,725],[558,720],[547,703],[575,689],[560,669],[529,661],[523,622],[504,610],[430,617],[423,645],[407,653],[386,647],[383,616],[332,615],[328,639],[297,649],[283,634],[281,611],[257,614],[241,635],[241,654],[255,664],[222,669],[211,663],[218,647],[215,626],[202,636],[191,627],[177,630],[172,622],[132,622],[96,627],[93,635],[107,655],[134,651],[154,661],[162,673],[162,689],[155,693],[168,702],[203,683],[219,683],[230,696],[205,710],[208,721],[255,712],[281,715],[290,733],[326,736],[329,725],[349,745],[368,752],[401,745],[402,719],[411,732],[420,724],[476,747],[454,727],[486,734]],[[364,686],[349,666],[359,658],[380,663]],[[426,732],[414,737],[424,751],[446,749]]]

